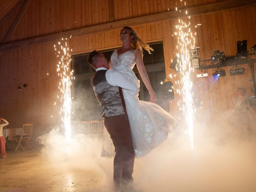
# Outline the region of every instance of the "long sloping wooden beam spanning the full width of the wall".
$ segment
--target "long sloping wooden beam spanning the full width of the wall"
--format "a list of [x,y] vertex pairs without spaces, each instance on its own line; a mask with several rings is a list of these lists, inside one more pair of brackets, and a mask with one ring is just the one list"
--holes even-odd
[[93,33],[98,33],[98,32],[103,32],[108,30],[114,30],[114,29],[122,28],[123,26],[137,26],[142,24],[160,22],[164,20],[174,20],[178,18],[185,18],[185,17],[188,17],[188,15],[184,13],[185,10],[188,11],[190,16],[198,16],[202,14],[212,14],[212,13],[221,12],[224,10],[232,10],[236,8],[252,6],[255,4],[256,4],[256,0],[228,0],[223,2],[202,5],[202,6],[196,6],[192,8],[186,8],[186,9],[183,9],[181,12],[169,11],[169,12],[164,12],[159,14],[142,16],[139,18],[132,18],[127,20],[110,22],[106,24],[100,24],[96,26],[70,30],[62,33],[56,33],[56,34],[41,36],[37,38],[22,40],[19,42],[2,44],[0,45],[0,52],[14,50],[17,48],[23,48],[28,46],[39,45],[39,44],[46,44],[50,42],[56,42],[61,38],[70,38],[70,36],[74,38],[74,37],[83,36],[86,34],[93,34]]

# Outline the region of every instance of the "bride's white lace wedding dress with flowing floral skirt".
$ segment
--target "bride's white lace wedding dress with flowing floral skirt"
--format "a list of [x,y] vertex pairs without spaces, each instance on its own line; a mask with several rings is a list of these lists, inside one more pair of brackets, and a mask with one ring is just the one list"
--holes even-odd
[[[111,61],[113,69],[118,70],[140,87],[140,80],[132,71],[136,64],[134,59],[136,51],[138,50],[130,50],[118,56],[117,50],[114,50]],[[168,133],[177,128],[177,122],[157,104],[141,101],[138,94],[134,95],[129,90],[122,89],[122,91],[136,157],[145,156],[160,145],[167,138]]]

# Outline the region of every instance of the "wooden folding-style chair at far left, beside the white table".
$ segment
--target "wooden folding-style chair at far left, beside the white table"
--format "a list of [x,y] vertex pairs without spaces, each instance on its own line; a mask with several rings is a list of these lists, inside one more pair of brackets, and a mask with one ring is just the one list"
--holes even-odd
[[[24,151],[26,151],[25,149],[27,148],[30,148],[31,150],[33,149],[29,144],[32,136],[32,129],[33,129],[33,124],[24,124],[22,127],[21,134],[13,137],[18,143],[18,145],[15,148],[15,151],[17,151],[20,148],[22,148]],[[26,146],[22,146],[21,144],[22,140],[26,142]]]

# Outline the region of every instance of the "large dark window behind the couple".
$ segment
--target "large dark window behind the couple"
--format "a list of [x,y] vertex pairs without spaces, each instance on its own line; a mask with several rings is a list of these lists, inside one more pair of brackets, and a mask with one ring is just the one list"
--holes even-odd
[[[154,42],[149,44],[154,51],[152,54],[143,52],[143,62],[148,73],[149,80],[152,84],[152,88],[156,92],[156,103],[162,106],[165,110],[168,108],[168,103],[163,102],[164,96],[162,96],[162,90],[160,82],[166,78],[165,65],[164,65],[164,50],[162,42]],[[110,60],[112,50],[104,50],[102,53]],[[90,121],[101,120],[100,117],[101,108],[95,97],[92,86],[90,85],[90,78],[94,75],[95,70],[87,62],[86,54],[79,54],[72,56],[71,68],[74,70],[75,80],[72,83],[72,120],[75,121]],[[138,69],[134,67],[134,72],[140,80],[140,100],[149,101],[150,96],[146,89]]]

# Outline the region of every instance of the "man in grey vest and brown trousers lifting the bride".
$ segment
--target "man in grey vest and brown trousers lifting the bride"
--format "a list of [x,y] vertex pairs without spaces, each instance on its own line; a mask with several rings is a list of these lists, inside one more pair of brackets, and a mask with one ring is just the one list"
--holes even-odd
[[137,93],[137,86],[116,70],[108,70],[108,60],[96,50],[88,55],[88,62],[96,70],[92,87],[102,108],[105,127],[115,146],[114,185],[115,190],[132,187],[134,147],[130,124],[126,113],[122,88]]

